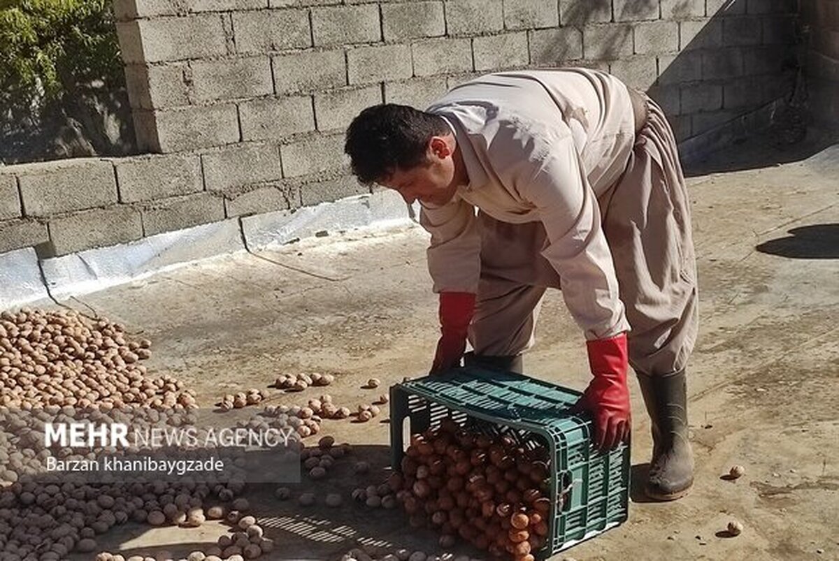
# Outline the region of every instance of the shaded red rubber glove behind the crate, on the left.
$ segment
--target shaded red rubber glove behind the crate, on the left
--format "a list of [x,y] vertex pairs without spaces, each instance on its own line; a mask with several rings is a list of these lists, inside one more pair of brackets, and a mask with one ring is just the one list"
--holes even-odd
[[475,294],[468,292],[440,293],[440,340],[431,374],[461,366],[466,352],[466,332],[475,314]]

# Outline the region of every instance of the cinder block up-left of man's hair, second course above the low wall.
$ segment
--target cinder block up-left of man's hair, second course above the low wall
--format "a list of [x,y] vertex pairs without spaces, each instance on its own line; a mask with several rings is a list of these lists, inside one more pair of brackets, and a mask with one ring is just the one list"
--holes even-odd
[[343,50],[275,56],[271,65],[278,94],[347,86]]

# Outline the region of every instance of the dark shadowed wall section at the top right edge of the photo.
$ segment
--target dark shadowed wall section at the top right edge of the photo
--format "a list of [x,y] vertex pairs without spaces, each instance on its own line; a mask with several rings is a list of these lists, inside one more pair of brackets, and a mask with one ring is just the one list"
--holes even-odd
[[821,124],[839,127],[839,0],[801,0],[807,26],[810,112]]

